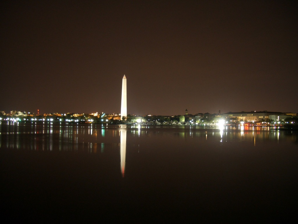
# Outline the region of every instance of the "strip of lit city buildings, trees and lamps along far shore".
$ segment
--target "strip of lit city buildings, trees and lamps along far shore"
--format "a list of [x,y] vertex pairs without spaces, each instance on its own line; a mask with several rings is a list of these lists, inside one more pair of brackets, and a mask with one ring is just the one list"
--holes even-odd
[[[24,112],[25,113],[25,112]],[[10,121],[10,122],[88,122],[88,123],[94,123],[94,122],[111,122],[111,123],[117,123],[121,122],[121,118],[119,117],[120,114],[105,114],[105,113],[91,113],[84,115],[83,114],[75,114],[75,113],[52,113],[52,114],[44,114],[42,115],[29,115],[30,113],[26,113],[27,116],[18,116],[18,115],[13,115],[14,113],[10,113],[10,115],[7,114],[5,116],[5,112],[2,112],[2,115],[0,117],[0,121]],[[252,114],[247,114],[247,115],[252,115]],[[41,117],[42,116],[42,117]],[[67,116],[63,117],[63,116]],[[230,115],[229,115],[230,116]],[[232,115],[231,115],[232,116]],[[242,116],[242,115],[241,115]],[[172,118],[175,116],[172,116]],[[183,116],[184,117],[184,116]],[[107,119],[108,118],[108,119]],[[166,118],[166,117],[164,117]],[[255,125],[282,125],[282,124],[296,124],[297,122],[295,121],[286,121],[282,119],[283,117],[277,116],[277,119],[274,121],[274,119],[269,119],[268,116],[265,118],[266,121],[263,119],[263,116],[259,116],[260,120],[253,120],[252,118],[246,118],[244,116],[242,117],[232,117],[227,119],[228,121],[224,120],[223,118],[219,117],[214,117],[212,119],[208,119],[205,122],[204,118],[198,119],[197,117],[195,119],[192,119],[193,117],[187,117],[185,118],[185,122],[183,119],[181,119],[180,116],[180,122],[179,122],[179,117],[176,116],[176,118],[170,119],[170,117],[167,117],[167,119],[159,119],[159,116],[153,116],[153,115],[147,115],[147,116],[137,116],[137,115],[131,115],[125,118],[125,122],[129,123],[134,123],[136,125],[138,124],[170,124],[170,125],[177,125],[177,124],[182,124],[182,125],[217,125],[218,127],[224,127],[226,125],[239,125],[239,126],[255,126]],[[262,118],[262,119],[261,119]],[[178,121],[176,120],[178,119]],[[255,118],[257,119],[257,118]],[[116,121],[119,120],[119,121]],[[270,120],[270,122],[268,122]],[[272,121],[271,121],[272,120]],[[123,121],[123,122],[124,122]]]

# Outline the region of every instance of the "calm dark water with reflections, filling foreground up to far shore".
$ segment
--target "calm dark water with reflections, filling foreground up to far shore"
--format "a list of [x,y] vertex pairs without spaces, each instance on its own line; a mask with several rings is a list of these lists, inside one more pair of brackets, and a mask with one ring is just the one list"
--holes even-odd
[[7,122],[0,130],[9,223],[297,221],[297,133]]

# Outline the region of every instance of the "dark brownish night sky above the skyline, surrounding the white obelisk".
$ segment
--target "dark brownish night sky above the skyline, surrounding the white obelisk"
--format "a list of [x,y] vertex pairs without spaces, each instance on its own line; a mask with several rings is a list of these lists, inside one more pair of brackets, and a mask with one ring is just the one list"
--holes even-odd
[[298,112],[297,1],[2,1],[0,111]]

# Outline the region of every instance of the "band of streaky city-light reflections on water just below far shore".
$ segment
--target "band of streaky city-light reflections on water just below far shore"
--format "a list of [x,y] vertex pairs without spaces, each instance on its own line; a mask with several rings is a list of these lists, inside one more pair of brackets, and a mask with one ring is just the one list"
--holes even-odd
[[[97,125],[71,123],[32,123],[0,122],[0,146],[15,149],[31,149],[43,151],[88,151],[104,152],[105,145],[120,141],[121,131],[125,129],[134,141],[135,138],[197,138],[199,141],[258,142],[270,140],[279,142],[289,136],[285,131],[272,127],[248,126],[220,126],[220,127],[192,127],[192,126],[145,126],[145,125]],[[125,133],[126,134],[126,133]],[[124,135],[124,134],[123,134]],[[293,137],[294,138],[294,137]]]

